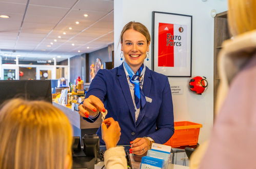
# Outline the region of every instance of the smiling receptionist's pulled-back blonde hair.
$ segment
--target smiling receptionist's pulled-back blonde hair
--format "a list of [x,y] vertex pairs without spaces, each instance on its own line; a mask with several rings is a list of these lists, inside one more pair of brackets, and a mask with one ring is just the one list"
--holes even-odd
[[138,23],[138,22],[129,22],[128,24],[126,24],[121,32],[121,35],[120,35],[120,40],[121,40],[121,43],[123,43],[123,35],[125,33],[125,31],[129,30],[129,29],[133,29],[135,31],[138,31],[140,32],[141,34],[143,34],[146,39],[147,39],[147,44],[149,44],[150,42],[150,34],[148,32],[148,29],[141,23]]

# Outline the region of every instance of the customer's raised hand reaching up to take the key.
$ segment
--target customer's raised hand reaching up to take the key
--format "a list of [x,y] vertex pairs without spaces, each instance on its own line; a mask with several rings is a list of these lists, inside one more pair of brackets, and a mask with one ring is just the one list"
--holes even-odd
[[119,123],[112,117],[102,122],[102,139],[106,144],[106,148],[115,147],[121,136],[121,128]]

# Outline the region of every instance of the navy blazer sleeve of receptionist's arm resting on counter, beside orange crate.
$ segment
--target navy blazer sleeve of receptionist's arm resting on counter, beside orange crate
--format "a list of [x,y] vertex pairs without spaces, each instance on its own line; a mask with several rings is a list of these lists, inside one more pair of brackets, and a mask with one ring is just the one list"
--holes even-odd
[[163,144],[170,139],[174,133],[173,122],[173,104],[171,96],[171,88],[168,77],[166,76],[165,87],[162,93],[162,103],[159,115],[156,119],[156,131],[149,134],[156,143]]

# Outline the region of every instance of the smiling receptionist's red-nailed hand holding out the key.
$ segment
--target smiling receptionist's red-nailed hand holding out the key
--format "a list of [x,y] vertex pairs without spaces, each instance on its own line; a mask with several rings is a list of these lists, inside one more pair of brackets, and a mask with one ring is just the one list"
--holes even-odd
[[90,95],[88,98],[86,98],[83,102],[83,104],[80,104],[78,106],[79,114],[82,117],[88,118],[89,116],[95,116],[97,112],[105,112],[104,104],[103,102],[97,98],[96,96]]

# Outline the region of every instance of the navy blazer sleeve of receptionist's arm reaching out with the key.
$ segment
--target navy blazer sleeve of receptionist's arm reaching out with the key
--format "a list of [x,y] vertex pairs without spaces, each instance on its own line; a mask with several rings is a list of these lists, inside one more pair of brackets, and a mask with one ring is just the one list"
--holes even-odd
[[[102,102],[104,102],[104,98],[107,93],[107,86],[106,86],[104,71],[106,71],[106,70],[100,69],[97,72],[96,76],[93,78],[93,80],[90,84],[90,88],[89,88],[85,98],[88,98],[90,95],[94,95],[94,96],[98,97]],[[83,102],[81,102],[81,104],[83,104]],[[92,123],[92,122],[96,121],[99,118],[99,116],[100,116],[100,114],[94,118],[84,118],[83,117],[83,119]]]

